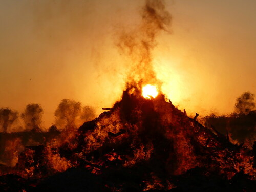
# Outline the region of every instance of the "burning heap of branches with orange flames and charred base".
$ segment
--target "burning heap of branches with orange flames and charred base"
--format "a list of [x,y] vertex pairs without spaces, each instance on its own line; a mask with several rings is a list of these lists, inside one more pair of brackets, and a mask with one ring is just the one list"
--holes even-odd
[[128,87],[107,110],[2,165],[1,191],[253,191],[255,148],[230,143],[163,95]]

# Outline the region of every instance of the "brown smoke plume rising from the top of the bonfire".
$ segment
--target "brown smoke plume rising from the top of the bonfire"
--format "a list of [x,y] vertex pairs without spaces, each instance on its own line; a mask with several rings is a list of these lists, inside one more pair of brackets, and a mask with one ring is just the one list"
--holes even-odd
[[161,31],[168,32],[172,17],[165,10],[161,0],[146,0],[142,9],[141,24],[132,31],[122,31],[117,42],[118,48],[132,59],[128,79],[136,83],[156,83],[152,65],[152,51],[156,37]]

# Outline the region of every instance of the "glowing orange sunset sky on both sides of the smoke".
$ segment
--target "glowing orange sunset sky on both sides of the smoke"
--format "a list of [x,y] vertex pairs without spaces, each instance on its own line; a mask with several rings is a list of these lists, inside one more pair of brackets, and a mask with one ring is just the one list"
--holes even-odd
[[[144,1],[0,0],[0,107],[44,109],[74,99],[101,112],[120,99],[129,58],[120,29],[140,23]],[[161,33],[154,68],[166,96],[189,113],[227,114],[256,93],[256,1],[166,1],[172,33]]]

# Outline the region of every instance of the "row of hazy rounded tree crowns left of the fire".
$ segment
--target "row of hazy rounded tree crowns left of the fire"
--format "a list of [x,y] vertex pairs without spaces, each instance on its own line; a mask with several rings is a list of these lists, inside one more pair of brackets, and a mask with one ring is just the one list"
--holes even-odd
[[[40,104],[28,104],[19,114],[10,108],[0,108],[0,132],[28,132],[42,130],[42,115],[44,110]],[[95,109],[92,106],[83,106],[80,102],[63,99],[55,110],[53,125],[59,130],[67,127],[79,127],[82,123],[94,119]]]

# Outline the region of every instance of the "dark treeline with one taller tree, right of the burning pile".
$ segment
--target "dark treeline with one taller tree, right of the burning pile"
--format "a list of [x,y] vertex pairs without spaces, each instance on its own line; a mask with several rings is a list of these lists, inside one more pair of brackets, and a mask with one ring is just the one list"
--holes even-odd
[[234,106],[232,114],[227,116],[206,116],[205,126],[213,126],[218,132],[229,135],[234,142],[253,145],[255,141],[256,110],[254,94],[243,93]]

